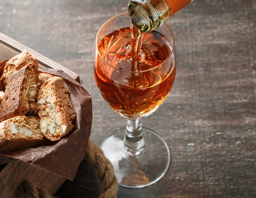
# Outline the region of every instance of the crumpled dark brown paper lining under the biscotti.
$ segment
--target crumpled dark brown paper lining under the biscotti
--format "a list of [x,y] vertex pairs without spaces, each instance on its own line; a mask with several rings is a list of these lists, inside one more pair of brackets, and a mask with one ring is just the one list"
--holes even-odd
[[[5,62],[0,62],[0,70],[3,64]],[[14,158],[20,159],[55,175],[73,180],[85,156],[90,137],[92,124],[91,97],[78,82],[63,71],[55,69],[39,70],[64,78],[73,109],[76,111],[74,130],[61,140],[51,142],[51,145],[48,146],[3,153],[0,155],[0,165],[8,163]]]

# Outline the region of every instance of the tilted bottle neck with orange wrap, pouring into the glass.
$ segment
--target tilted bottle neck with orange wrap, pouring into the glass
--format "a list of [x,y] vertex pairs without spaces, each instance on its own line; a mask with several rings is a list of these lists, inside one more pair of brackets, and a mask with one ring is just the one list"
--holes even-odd
[[152,31],[193,0],[130,0],[128,11],[140,33]]

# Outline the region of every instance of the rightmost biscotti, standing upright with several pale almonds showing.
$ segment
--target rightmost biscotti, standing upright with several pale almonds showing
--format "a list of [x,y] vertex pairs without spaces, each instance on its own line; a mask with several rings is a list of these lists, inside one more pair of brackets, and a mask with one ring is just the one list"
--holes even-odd
[[61,139],[73,129],[76,119],[64,79],[53,77],[41,86],[38,93],[41,131],[48,139]]

